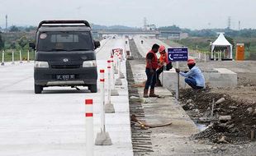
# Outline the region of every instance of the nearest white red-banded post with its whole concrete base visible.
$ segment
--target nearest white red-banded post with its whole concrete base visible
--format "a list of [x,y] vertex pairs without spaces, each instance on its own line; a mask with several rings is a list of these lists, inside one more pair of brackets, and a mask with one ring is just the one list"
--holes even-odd
[[101,132],[97,133],[95,145],[112,145],[109,134],[105,128],[105,78],[104,70],[100,70],[100,89],[101,89]]

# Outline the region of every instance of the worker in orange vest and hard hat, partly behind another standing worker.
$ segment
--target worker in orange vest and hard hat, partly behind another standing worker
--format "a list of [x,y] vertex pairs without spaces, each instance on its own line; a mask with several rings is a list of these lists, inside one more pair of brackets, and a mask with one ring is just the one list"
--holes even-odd
[[156,71],[156,86],[163,86],[161,84],[161,81],[159,80],[159,75],[164,71],[164,66],[166,66],[166,71],[169,71],[170,69],[173,68],[172,62],[168,61],[168,53],[165,51],[164,45],[161,45],[159,47],[159,68]]

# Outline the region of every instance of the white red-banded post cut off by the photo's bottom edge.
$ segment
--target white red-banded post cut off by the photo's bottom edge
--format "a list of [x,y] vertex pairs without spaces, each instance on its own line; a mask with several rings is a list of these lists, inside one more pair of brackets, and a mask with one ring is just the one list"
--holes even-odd
[[93,100],[85,99],[86,155],[93,156]]

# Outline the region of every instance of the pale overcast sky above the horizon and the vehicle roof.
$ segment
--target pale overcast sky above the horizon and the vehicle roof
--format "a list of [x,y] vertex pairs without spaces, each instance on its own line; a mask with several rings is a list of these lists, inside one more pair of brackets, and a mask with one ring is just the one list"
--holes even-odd
[[85,19],[98,25],[183,28],[256,28],[256,0],[0,0],[0,26],[38,25],[42,20]]

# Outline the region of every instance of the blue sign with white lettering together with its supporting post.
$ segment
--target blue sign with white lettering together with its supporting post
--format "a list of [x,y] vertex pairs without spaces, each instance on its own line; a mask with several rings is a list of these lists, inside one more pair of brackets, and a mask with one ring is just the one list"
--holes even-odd
[[[168,60],[176,62],[176,68],[179,69],[179,62],[187,62],[188,50],[187,48],[168,48]],[[179,97],[179,74],[177,73],[176,85],[176,99]]]

